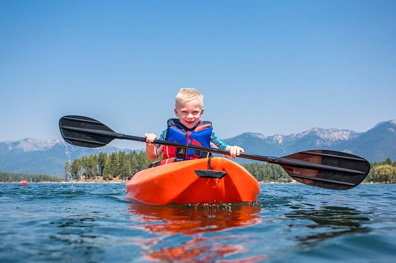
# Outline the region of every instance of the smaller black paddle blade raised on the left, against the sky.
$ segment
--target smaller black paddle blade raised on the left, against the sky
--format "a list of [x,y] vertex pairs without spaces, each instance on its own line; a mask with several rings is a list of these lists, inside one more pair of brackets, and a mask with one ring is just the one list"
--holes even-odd
[[100,121],[75,115],[61,117],[59,130],[67,143],[89,148],[105,146],[115,139],[114,134],[117,134]]

